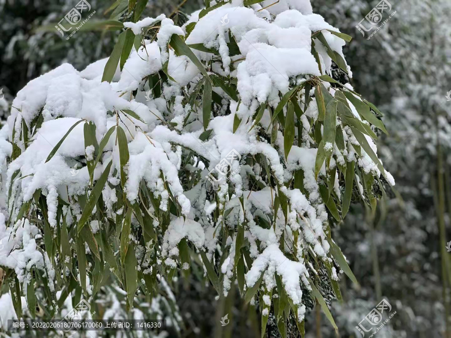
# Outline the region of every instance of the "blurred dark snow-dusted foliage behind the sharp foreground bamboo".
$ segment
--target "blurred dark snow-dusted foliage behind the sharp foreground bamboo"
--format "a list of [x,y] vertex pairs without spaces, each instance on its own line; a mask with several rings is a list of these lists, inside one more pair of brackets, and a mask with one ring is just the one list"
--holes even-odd
[[[355,26],[377,3],[312,0],[314,13],[353,37],[344,51],[353,71],[350,83],[385,114],[389,135],[380,137],[378,148],[396,180],[375,213],[353,205],[333,229],[361,287],[342,278],[344,302],[327,301],[341,337],[360,337],[355,326],[383,297],[397,314],[379,338],[449,337],[451,2],[390,2],[396,14],[367,40],[368,34],[363,37]],[[124,19],[126,11],[111,9],[110,0],[90,4],[96,10],[93,22]],[[31,79],[65,62],[83,70],[110,55],[118,31],[82,31],[66,41],[53,28],[74,5],[69,0],[0,0],[0,88],[5,94],[0,114],[8,114],[12,99]],[[181,6],[179,0],[149,0],[141,18],[160,13],[175,18],[201,6],[201,0]],[[260,336],[259,316],[252,307],[243,308],[238,292],[230,303],[218,303],[214,295],[206,285],[178,281],[185,336]],[[224,308],[232,323],[225,328],[218,324]],[[271,318],[268,325],[268,336],[278,336]],[[308,337],[336,336],[318,306],[307,317],[306,332]]]

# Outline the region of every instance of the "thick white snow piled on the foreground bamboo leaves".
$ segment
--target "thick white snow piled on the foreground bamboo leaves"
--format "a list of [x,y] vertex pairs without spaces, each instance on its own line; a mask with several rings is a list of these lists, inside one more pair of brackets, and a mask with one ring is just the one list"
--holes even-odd
[[[264,0],[252,8],[243,7],[242,1],[232,0],[210,11],[200,20],[198,15],[199,11],[193,13],[188,21],[197,22],[189,35],[185,34],[188,23],[177,27],[164,15],[145,18],[137,23],[124,23],[124,27],[135,35],[158,22],[161,27],[156,41],[144,40],[144,46],[138,50],[132,48],[123,70],[119,67],[116,69],[112,83],[101,82],[107,62],[107,59],[102,59],[81,72],[71,65],[63,64],[31,81],[18,93],[12,105],[15,108],[12,108],[7,124],[0,131],[0,174],[6,177],[6,181],[2,180],[2,191],[10,184],[12,187],[10,199],[5,193],[0,196],[0,208],[6,215],[0,213],[0,243],[3,241],[5,244],[5,248],[0,249],[0,265],[15,269],[21,282],[29,280],[31,267],[47,269],[54,276],[49,258],[37,250],[35,238],[41,235],[38,227],[28,219],[6,227],[5,219],[10,219],[10,222],[15,219],[20,206],[31,201],[34,193],[41,189],[46,196],[48,220],[52,229],[57,229],[60,199],[70,204],[63,210],[67,224],[71,226],[82,213],[73,197],[91,194],[91,184],[98,180],[107,164],[112,161],[108,183],[102,189],[108,217],[115,219],[126,211],[124,206],[119,210],[115,208],[122,193],[125,193],[127,203],[139,202],[143,184],[152,197],[158,200],[159,210],[154,210],[151,203],[146,205],[149,210],[145,216],[152,217],[155,230],[162,232],[160,213],[168,215],[169,225],[162,234],[158,262],[163,261],[168,268],[176,268],[179,261],[178,244],[183,238],[197,250],[204,250],[213,261],[214,253],[219,248],[218,241],[222,240],[220,229],[227,227],[231,236],[226,240],[227,249],[220,249],[220,254],[227,256],[219,267],[223,274],[223,293],[227,295],[236,270],[234,231],[239,226],[244,226],[246,243],[249,243],[250,255],[254,258],[246,274],[247,287],[254,285],[264,273],[264,285],[268,290],[273,289],[276,285],[274,274],[277,273],[287,294],[297,305],[298,318],[302,320],[305,306],[301,301],[301,283],[310,289],[304,254],[311,249],[320,259],[329,259],[326,237],[328,214],[314,172],[317,145],[310,136],[312,122],[318,119],[318,107],[315,99],[311,100],[309,108],[301,116],[302,134],[297,135],[299,142],[293,145],[287,160],[284,156],[282,133],[277,135],[275,144],[268,141],[272,131],[270,110],[277,106],[282,95],[293,88],[293,84],[301,85],[312,76],[330,74],[332,61],[317,39],[313,47],[319,53],[322,74],[312,55],[312,33],[322,31],[332,50],[341,56],[345,42],[326,31],[338,32],[321,16],[312,13],[309,0],[280,0],[277,3]],[[226,17],[228,21],[224,24]],[[200,139],[204,132],[203,103],[196,97],[194,104],[187,101],[195,88],[207,80],[190,58],[175,55],[174,50],[168,48],[173,34],[185,39],[187,45],[203,44],[206,48],[217,50],[218,56],[214,57],[194,49],[192,52],[207,72],[229,78],[230,83],[238,89],[237,102],[231,100],[222,89],[213,87],[213,91],[220,96],[222,107],[211,114],[208,125],[211,133],[204,140]],[[235,56],[230,55],[230,35],[239,48],[238,55]],[[174,81],[169,79],[165,82],[161,96],[154,97],[147,79],[159,76],[166,66],[167,74]],[[334,89],[329,84],[324,85],[333,95]],[[200,93],[202,94],[202,90]],[[294,99],[303,107],[302,100],[296,96]],[[260,105],[266,102],[269,106],[261,120],[264,128],[257,125],[251,130],[253,117]],[[360,120],[355,108],[350,103],[349,105],[354,116]],[[216,106],[215,103],[214,109]],[[139,119],[126,114],[126,110],[132,110]],[[20,138],[23,123],[30,128],[39,114],[42,114],[44,122],[38,130],[30,130],[33,132],[29,133],[31,142],[24,144]],[[236,118],[241,123],[234,131]],[[55,145],[77,122],[80,123],[69,133],[53,158],[46,162]],[[97,143],[100,143],[111,127],[115,128],[100,154],[93,181],[86,162],[96,158],[95,147],[85,147],[83,142],[85,123],[90,122],[96,126]],[[129,159],[123,168],[125,182],[121,182],[120,178],[121,154],[117,128],[124,130],[129,150]],[[340,165],[355,160],[352,145],[358,144],[349,128],[344,129],[343,138],[348,148],[345,151],[339,150],[332,143],[326,143],[324,147],[337,158]],[[369,137],[367,140],[377,153],[373,140]],[[21,153],[9,163],[13,141]],[[185,155],[189,152],[192,152],[192,157],[186,161]],[[231,153],[239,154],[238,160],[231,161]],[[361,153],[358,165],[362,170],[375,176],[380,175],[379,169],[363,149]],[[270,180],[264,180],[266,168],[261,162],[250,164],[246,161],[257,157],[267,162],[272,175]],[[218,173],[216,168],[224,160],[229,161],[226,166],[221,166],[227,172],[225,175]],[[335,159],[332,158],[330,168],[335,167]],[[298,170],[302,170],[304,174],[303,191],[287,184]],[[213,171],[221,179],[214,194],[205,178]],[[19,175],[15,177],[17,172]],[[190,177],[194,178],[195,183],[189,185],[187,182],[192,180],[187,175],[192,175]],[[253,185],[253,179],[262,186]],[[319,172],[319,179],[327,179],[325,165]],[[389,173],[387,179],[394,185]],[[273,182],[277,183],[277,188]],[[340,199],[338,183],[336,179],[334,192]],[[357,183],[363,191],[363,187],[358,181]],[[186,188],[186,185],[189,187]],[[274,211],[276,196],[282,195],[289,204],[287,217],[282,208],[278,212]],[[170,209],[173,205],[176,206],[177,216]],[[230,213],[223,216],[224,210]],[[93,218],[96,214],[93,213]],[[270,226],[263,227],[259,219],[266,220]],[[132,222],[134,231],[137,221],[133,218]],[[89,225],[93,233],[98,233],[103,223],[92,219]],[[299,235],[297,242],[294,241],[294,233]],[[279,249],[283,235],[288,250],[297,248],[297,261],[288,259]],[[138,240],[135,233],[130,238]],[[142,253],[139,250],[137,252]],[[145,256],[144,253],[142,256]],[[179,266],[189,268],[186,262]],[[137,268],[148,273],[154,267],[147,265]],[[335,268],[332,274],[333,278],[337,278]],[[158,279],[170,291],[166,281],[161,276]],[[263,299],[269,307],[270,296],[264,295]],[[118,300],[114,301],[114,306],[118,305]],[[152,306],[155,306],[153,301]],[[268,314],[267,308],[264,311]],[[105,317],[112,315],[111,313],[111,310],[107,311]]]

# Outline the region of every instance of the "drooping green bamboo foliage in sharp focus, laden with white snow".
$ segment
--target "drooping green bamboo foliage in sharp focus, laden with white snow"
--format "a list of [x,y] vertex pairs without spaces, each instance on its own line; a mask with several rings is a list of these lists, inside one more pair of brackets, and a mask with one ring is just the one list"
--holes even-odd
[[49,318],[71,292],[94,304],[106,289],[127,309],[142,294],[174,309],[171,281],[201,264],[220,297],[237,283],[258,299],[263,331],[270,312],[302,331],[315,298],[335,326],[323,288],[341,299],[339,272],[356,280],[330,228],[394,184],[380,112],[331,77],[333,63],[352,77],[350,37],[309,0],[210,5],[181,27],[125,22],[108,60],[18,93],[0,140],[18,317],[18,292]]

